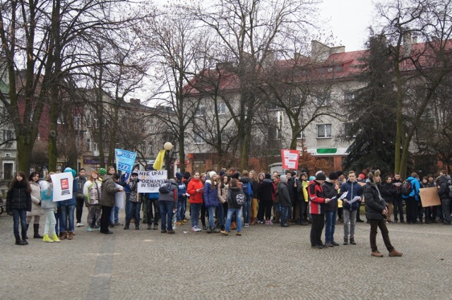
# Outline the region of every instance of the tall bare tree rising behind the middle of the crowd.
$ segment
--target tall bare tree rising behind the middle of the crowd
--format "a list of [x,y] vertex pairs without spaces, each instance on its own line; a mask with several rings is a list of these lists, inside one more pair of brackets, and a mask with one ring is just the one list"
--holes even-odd
[[215,34],[220,48],[234,59],[230,71],[239,78],[239,108],[226,102],[238,129],[239,167],[248,164],[249,141],[254,114],[261,101],[258,88],[262,68],[276,52],[287,47],[285,38],[293,31],[306,32],[309,13],[316,1],[213,1],[186,7]]

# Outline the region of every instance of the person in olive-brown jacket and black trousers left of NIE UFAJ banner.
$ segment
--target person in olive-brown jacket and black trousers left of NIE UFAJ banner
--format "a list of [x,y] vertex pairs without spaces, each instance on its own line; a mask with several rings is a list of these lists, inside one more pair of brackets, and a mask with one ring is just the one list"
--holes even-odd
[[99,204],[102,205],[102,215],[100,216],[100,232],[102,234],[112,234],[109,231],[109,218],[114,206],[114,194],[123,190],[122,186],[117,188],[114,180],[119,179],[119,174],[105,175],[102,179],[102,188],[100,193]]

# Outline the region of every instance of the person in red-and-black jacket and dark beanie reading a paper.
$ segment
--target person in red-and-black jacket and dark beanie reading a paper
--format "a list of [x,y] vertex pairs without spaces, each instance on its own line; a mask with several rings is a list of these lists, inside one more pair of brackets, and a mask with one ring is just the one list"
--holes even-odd
[[324,204],[331,201],[330,198],[323,196],[322,184],[326,180],[326,176],[323,172],[317,172],[316,179],[308,186],[309,194],[309,212],[311,213],[312,226],[311,226],[311,248],[323,248],[321,241],[323,224],[325,220]]

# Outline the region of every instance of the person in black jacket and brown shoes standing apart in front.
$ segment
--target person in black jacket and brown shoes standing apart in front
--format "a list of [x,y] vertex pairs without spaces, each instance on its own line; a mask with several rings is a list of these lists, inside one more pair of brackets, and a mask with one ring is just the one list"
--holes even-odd
[[369,172],[368,182],[364,186],[364,199],[366,205],[366,218],[370,224],[370,248],[371,256],[383,257],[376,246],[377,228],[380,228],[381,236],[386,248],[389,251],[389,256],[402,256],[402,253],[397,251],[391,244],[389,239],[389,231],[386,227],[386,217],[388,215],[388,205],[381,197],[379,191],[379,184],[381,182],[380,170]]

